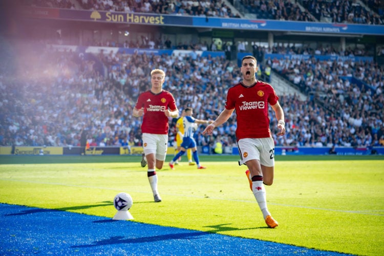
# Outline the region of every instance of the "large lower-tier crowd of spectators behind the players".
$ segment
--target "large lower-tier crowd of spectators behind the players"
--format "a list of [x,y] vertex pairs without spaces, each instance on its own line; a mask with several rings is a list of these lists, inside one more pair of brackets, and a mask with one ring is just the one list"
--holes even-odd
[[[164,89],[174,94],[178,108],[192,107],[199,119],[216,118],[224,108],[226,91],[241,80],[239,69],[225,57],[201,57],[194,51],[184,56],[100,52],[95,60],[30,42],[18,46],[8,46],[18,57],[12,60],[5,56],[1,67],[0,145],[79,145],[83,129],[88,131],[92,145],[119,146],[124,140],[141,145],[141,120],[132,116],[132,109],[139,92],[150,88],[149,73],[153,68],[166,72]],[[103,76],[95,68],[96,61],[102,62],[108,75]],[[276,145],[384,145],[383,72],[375,64],[342,67],[342,63],[321,62],[308,67],[282,61],[278,67],[293,65],[303,76],[321,74],[313,76],[312,83],[303,84],[308,92],[315,86],[315,79],[324,82],[315,87],[316,97],[304,102],[296,95],[279,95],[287,133],[274,137]],[[12,62],[14,65],[4,64]],[[339,69],[346,69],[356,78],[361,78],[358,75],[362,71],[364,77],[371,74],[372,80],[365,81],[370,87],[339,81]],[[317,101],[319,95],[323,97]],[[198,145],[220,140],[223,146],[236,146],[234,118],[210,137],[202,136],[203,127],[199,127]],[[276,120],[272,114],[270,118],[275,134]],[[173,127],[176,119],[170,121]],[[169,145],[174,135],[171,129]]]

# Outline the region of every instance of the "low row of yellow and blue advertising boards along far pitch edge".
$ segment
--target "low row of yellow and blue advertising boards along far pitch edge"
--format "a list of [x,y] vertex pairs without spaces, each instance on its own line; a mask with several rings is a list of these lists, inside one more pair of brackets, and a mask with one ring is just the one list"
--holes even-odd
[[[275,155],[329,155],[330,147],[275,147]],[[198,151],[203,155],[210,155],[212,149],[208,146],[198,147]],[[384,155],[384,146],[378,147],[336,147],[335,155]],[[141,146],[127,147],[105,146],[90,147],[84,151],[80,146],[2,146],[0,155],[141,155]],[[239,155],[237,147],[225,147],[223,150],[227,155]],[[175,148],[168,147],[167,155],[174,155]]]

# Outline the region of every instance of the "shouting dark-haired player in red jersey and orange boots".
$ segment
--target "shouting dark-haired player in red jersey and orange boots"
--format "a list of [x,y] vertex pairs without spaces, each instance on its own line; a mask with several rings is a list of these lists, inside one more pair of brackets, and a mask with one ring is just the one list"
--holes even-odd
[[203,134],[212,134],[215,127],[227,121],[236,110],[239,164],[247,165],[246,175],[264,220],[268,227],[275,228],[279,224],[268,211],[263,185],[272,185],[274,173],[274,142],[269,129],[268,103],[279,120],[278,136],[285,134],[284,112],[272,86],[256,80],[258,67],[255,57],[243,57],[240,70],[243,80],[228,90],[225,109]]

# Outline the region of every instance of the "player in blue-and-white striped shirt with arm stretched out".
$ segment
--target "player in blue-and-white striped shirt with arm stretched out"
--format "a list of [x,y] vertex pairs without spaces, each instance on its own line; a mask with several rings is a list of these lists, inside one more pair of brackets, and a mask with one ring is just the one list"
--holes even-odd
[[213,121],[210,120],[200,120],[200,119],[196,119],[194,117],[192,117],[192,114],[193,114],[193,110],[191,108],[186,108],[185,109],[185,116],[183,117],[183,124],[184,124],[184,137],[183,137],[183,142],[181,143],[181,146],[180,146],[180,152],[177,153],[177,155],[174,157],[174,159],[172,159],[170,162],[169,162],[169,166],[171,169],[175,169],[174,168],[174,163],[177,159],[179,159],[179,157],[181,157],[182,155],[184,155],[185,151],[188,149],[188,148],[191,148],[192,149],[192,152],[193,152],[193,156],[194,156],[194,159],[195,159],[195,162],[197,164],[197,168],[198,169],[205,169],[206,167],[204,166],[201,166],[200,165],[200,161],[199,161],[199,156],[197,154],[197,145],[196,145],[196,141],[195,141],[195,138],[194,138],[194,133],[197,129],[197,124],[200,123],[200,124],[208,124],[208,123],[212,123]]

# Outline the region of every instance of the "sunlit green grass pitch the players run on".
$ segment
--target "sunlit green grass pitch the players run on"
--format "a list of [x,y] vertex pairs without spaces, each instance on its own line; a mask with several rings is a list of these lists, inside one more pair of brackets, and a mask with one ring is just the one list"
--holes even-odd
[[[170,160],[167,157],[167,161]],[[139,156],[0,156],[0,203],[113,217],[119,192],[134,221],[319,250],[384,254],[383,156],[276,156],[266,186],[270,229],[237,156],[200,156],[207,169],[158,170],[154,203]]]

